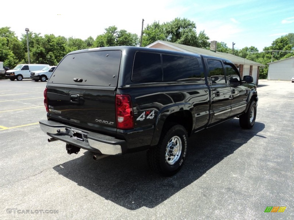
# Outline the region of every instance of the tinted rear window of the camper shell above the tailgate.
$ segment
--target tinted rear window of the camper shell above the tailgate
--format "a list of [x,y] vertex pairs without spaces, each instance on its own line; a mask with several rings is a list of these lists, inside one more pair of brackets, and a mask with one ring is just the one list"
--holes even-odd
[[[49,83],[116,87],[120,50],[69,54],[56,67]],[[75,82],[74,79],[82,79]]]

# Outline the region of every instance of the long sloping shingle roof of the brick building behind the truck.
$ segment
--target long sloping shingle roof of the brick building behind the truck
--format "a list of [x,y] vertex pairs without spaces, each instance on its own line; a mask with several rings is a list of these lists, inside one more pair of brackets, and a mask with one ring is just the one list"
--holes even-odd
[[208,55],[208,56],[224,58],[226,60],[230,60],[231,62],[233,62],[235,64],[252,65],[252,66],[264,66],[261,63],[254,62],[254,61],[251,61],[251,60],[247,60],[247,59],[244,59],[242,57],[235,56],[233,54],[222,53],[222,52],[218,52],[218,51],[213,52],[211,50],[206,50],[206,49],[203,49],[203,48],[191,47],[191,46],[178,44],[178,43],[171,43],[171,42],[167,42],[167,41],[163,41],[163,40],[157,40],[156,42],[154,42],[152,44],[149,44],[146,47],[151,47],[152,45],[154,45],[156,43],[161,43],[161,44],[164,44],[166,46],[170,46],[172,48],[178,49],[178,50],[183,51],[183,52],[204,54],[204,55]]

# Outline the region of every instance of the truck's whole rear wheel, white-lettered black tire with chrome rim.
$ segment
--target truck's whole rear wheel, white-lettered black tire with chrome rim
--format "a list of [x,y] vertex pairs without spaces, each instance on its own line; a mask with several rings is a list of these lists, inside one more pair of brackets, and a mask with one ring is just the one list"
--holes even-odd
[[182,125],[165,127],[158,145],[147,151],[147,161],[155,172],[164,176],[175,175],[187,157],[188,134]]

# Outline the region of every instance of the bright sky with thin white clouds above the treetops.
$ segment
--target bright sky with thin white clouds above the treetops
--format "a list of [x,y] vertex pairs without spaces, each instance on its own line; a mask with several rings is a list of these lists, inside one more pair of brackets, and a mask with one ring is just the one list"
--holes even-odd
[[273,41],[294,33],[293,0],[113,0],[1,1],[0,27],[10,27],[19,38],[25,28],[34,33],[94,39],[105,28],[141,35],[144,26],[187,18],[211,40],[235,49],[254,46],[262,51]]

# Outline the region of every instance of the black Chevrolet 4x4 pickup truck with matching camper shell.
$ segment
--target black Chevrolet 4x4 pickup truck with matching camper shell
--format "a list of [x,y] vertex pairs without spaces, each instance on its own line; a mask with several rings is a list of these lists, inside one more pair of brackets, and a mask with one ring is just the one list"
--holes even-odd
[[83,148],[95,159],[147,150],[151,168],[170,176],[182,167],[193,133],[235,117],[242,128],[254,125],[252,82],[218,57],[140,47],[74,51],[48,80],[48,120],[40,126],[69,154]]

